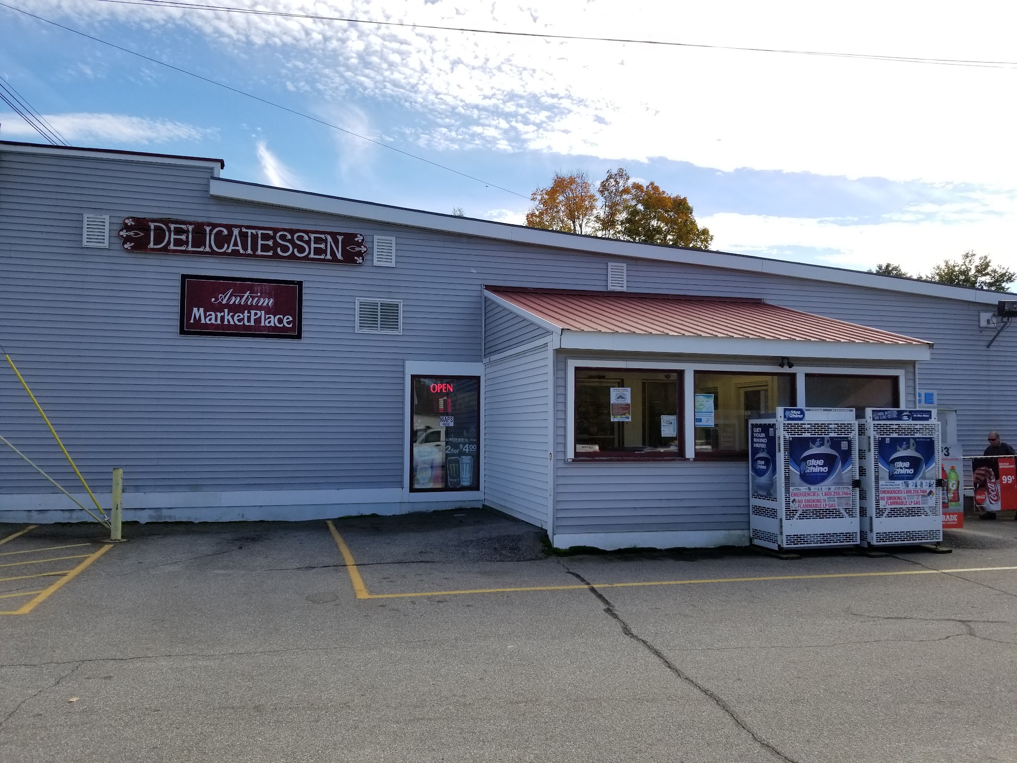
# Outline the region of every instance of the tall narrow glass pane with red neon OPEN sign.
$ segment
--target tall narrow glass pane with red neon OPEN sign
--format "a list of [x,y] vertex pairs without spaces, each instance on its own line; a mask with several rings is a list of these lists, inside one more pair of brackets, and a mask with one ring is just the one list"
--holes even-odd
[[410,377],[410,489],[480,489],[480,377]]

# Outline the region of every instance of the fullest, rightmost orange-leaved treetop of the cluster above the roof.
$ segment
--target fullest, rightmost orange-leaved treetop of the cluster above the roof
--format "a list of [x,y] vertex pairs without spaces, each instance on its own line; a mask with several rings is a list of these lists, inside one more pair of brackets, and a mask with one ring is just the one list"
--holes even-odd
[[633,183],[621,216],[621,238],[651,244],[709,249],[713,235],[700,228],[689,199],[666,193],[650,181]]

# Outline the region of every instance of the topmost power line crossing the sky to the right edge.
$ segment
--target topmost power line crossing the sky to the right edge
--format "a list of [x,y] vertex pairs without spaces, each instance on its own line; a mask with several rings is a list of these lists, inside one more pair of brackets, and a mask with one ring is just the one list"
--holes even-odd
[[145,5],[162,8],[186,8],[189,10],[220,11],[226,13],[245,13],[258,16],[281,16],[284,18],[303,18],[313,21],[346,21],[347,23],[368,23],[378,26],[403,26],[415,30],[436,30],[441,32],[470,32],[478,35],[502,35],[507,37],[529,37],[543,40],[573,40],[596,43],[625,43],[632,45],[662,45],[675,48],[703,48],[707,50],[730,50],[746,53],[782,53],[796,56],[825,56],[830,58],[855,58],[871,61],[892,61],[897,63],[936,64],[940,66],[974,66],[981,68],[1013,68],[1017,61],[980,61],[976,59],[957,58],[926,58],[922,56],[888,56],[875,53],[837,53],[834,51],[792,50],[784,48],[745,48],[733,45],[707,45],[705,43],[678,43],[665,40],[642,40],[638,38],[592,37],[584,35],[551,35],[539,32],[510,32],[507,30],[481,30],[468,26],[441,26],[438,24],[414,23],[409,21],[374,21],[365,18],[348,18],[346,16],[319,16],[310,13],[294,13],[283,10],[259,10],[256,8],[238,8],[230,5],[212,5],[208,3],[187,3],[180,0],[98,0],[98,2],[117,3],[120,5]]

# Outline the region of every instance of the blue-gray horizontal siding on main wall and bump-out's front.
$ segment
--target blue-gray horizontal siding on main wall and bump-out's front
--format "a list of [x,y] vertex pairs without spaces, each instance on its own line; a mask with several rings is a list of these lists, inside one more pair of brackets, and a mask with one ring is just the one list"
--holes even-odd
[[[210,175],[0,146],[0,342],[94,484],[108,485],[110,469],[121,466],[128,490],[138,491],[402,487],[405,361],[480,361],[485,284],[603,290],[607,262],[616,259],[212,198]],[[82,213],[110,216],[109,249],[81,247]],[[130,253],[116,237],[127,216],[391,235],[397,267]],[[303,339],[179,336],[182,273],[303,281]],[[983,305],[641,259],[627,260],[627,286],[762,297],[932,341],[917,384],[958,410],[966,453],[981,450],[990,428],[1017,437],[1017,332],[985,350],[993,332],[978,328]],[[401,299],[403,334],[355,333],[357,297]],[[524,336],[507,324],[498,336],[493,322],[491,348]],[[31,402],[2,370],[0,434],[73,484]],[[556,505],[577,528],[746,525],[743,500],[743,516],[734,510],[743,464],[695,465],[675,483],[668,465],[565,465],[562,437]],[[0,474],[0,508],[5,493],[53,489],[6,449]],[[638,518],[668,510],[675,484],[686,495],[680,512],[666,521]],[[612,490],[617,500],[605,500]]]

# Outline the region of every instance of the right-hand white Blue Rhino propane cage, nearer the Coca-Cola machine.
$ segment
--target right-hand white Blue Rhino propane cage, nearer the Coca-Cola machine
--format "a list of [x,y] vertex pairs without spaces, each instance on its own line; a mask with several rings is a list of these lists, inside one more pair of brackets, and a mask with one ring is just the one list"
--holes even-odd
[[936,411],[866,408],[860,422],[861,544],[943,540]]

